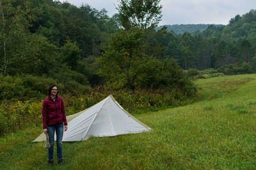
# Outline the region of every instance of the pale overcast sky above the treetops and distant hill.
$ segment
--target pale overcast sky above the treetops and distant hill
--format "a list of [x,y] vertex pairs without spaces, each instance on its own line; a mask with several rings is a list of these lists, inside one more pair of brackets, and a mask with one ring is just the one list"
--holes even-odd
[[[61,0],[80,7],[89,4],[96,10],[104,8],[109,17],[117,13],[118,0]],[[256,9],[256,0],[161,0],[162,21],[159,25],[224,24],[237,14]]]

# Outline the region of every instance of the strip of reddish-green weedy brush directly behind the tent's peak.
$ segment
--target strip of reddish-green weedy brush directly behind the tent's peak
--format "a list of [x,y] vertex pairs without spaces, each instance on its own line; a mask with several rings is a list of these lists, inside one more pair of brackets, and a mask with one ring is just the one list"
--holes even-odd
[[[187,90],[191,87],[188,84]],[[155,111],[161,108],[170,108],[179,106],[188,100],[196,99],[197,93],[190,89],[187,93],[179,88],[163,88],[157,90],[111,90],[106,86],[95,87],[90,93],[83,96],[65,96],[63,97],[67,106],[68,115],[77,113],[98,103],[102,99],[112,94],[116,101],[122,105],[125,110],[131,113],[141,113]],[[194,96],[189,96],[194,94]]]

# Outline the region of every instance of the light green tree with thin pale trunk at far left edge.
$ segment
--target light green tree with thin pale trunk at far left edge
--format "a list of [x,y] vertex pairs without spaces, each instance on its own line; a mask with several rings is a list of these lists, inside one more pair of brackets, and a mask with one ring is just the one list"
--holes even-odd
[[4,75],[19,74],[17,68],[26,55],[24,49],[30,35],[24,11],[20,6],[13,8],[12,3],[13,1],[1,1],[0,66]]

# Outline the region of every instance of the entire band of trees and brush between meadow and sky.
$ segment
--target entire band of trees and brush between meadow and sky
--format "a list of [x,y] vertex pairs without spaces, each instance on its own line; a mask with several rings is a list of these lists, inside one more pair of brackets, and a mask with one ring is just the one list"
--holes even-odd
[[0,117],[15,110],[8,106],[22,105],[13,114],[26,122],[29,107],[40,108],[52,83],[65,96],[68,114],[109,94],[128,111],[148,111],[200,98],[193,76],[205,69],[256,73],[255,10],[228,25],[175,34],[156,29],[159,2],[121,0],[109,17],[88,4],[0,0]]

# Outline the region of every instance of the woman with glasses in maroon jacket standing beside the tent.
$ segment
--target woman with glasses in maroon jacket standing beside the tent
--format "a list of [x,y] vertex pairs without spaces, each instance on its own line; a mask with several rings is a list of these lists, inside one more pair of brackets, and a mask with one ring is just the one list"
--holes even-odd
[[57,157],[58,164],[63,162],[62,159],[62,137],[63,124],[65,131],[68,129],[67,119],[65,115],[65,107],[61,97],[58,97],[58,87],[51,85],[48,90],[48,98],[44,100],[42,107],[43,127],[44,133],[49,135],[48,148],[48,164],[53,164],[53,146],[54,146],[54,132],[56,132]]

